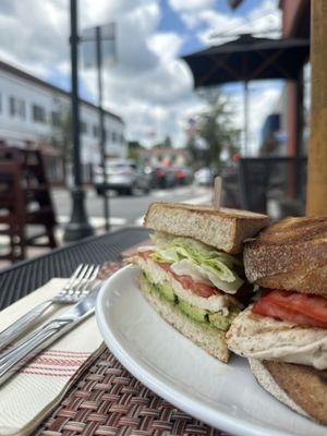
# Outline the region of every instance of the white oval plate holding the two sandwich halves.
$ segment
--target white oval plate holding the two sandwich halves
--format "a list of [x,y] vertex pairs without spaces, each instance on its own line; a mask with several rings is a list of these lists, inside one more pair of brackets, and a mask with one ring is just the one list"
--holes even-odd
[[242,436],[326,436],[255,382],[247,361],[218,362],[169,326],[137,289],[138,268],[109,278],[98,296],[99,329],[116,358],[145,386],[193,416]]

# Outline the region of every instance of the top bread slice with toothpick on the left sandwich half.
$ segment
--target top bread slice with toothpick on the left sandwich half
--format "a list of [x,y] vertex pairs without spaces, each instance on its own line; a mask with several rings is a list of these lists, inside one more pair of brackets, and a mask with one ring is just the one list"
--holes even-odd
[[153,203],[144,226],[179,237],[194,238],[227,253],[242,251],[243,241],[268,223],[268,217],[247,210],[180,203]]

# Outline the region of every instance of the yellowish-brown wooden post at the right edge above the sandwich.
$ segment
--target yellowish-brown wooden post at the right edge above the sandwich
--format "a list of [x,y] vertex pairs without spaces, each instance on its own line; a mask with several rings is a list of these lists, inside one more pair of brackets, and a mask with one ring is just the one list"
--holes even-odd
[[327,215],[327,0],[312,0],[311,138],[306,215]]

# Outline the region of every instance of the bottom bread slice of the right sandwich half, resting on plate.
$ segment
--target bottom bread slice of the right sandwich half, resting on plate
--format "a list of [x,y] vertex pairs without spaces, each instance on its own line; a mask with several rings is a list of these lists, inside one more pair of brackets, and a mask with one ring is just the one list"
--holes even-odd
[[327,425],[327,371],[250,359],[258,383],[289,408]]

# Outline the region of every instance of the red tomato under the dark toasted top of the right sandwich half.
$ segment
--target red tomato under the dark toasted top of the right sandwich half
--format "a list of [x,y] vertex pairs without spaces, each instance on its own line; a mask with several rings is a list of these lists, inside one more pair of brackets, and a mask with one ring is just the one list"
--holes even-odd
[[327,300],[323,296],[268,290],[252,311],[294,324],[327,328]]

